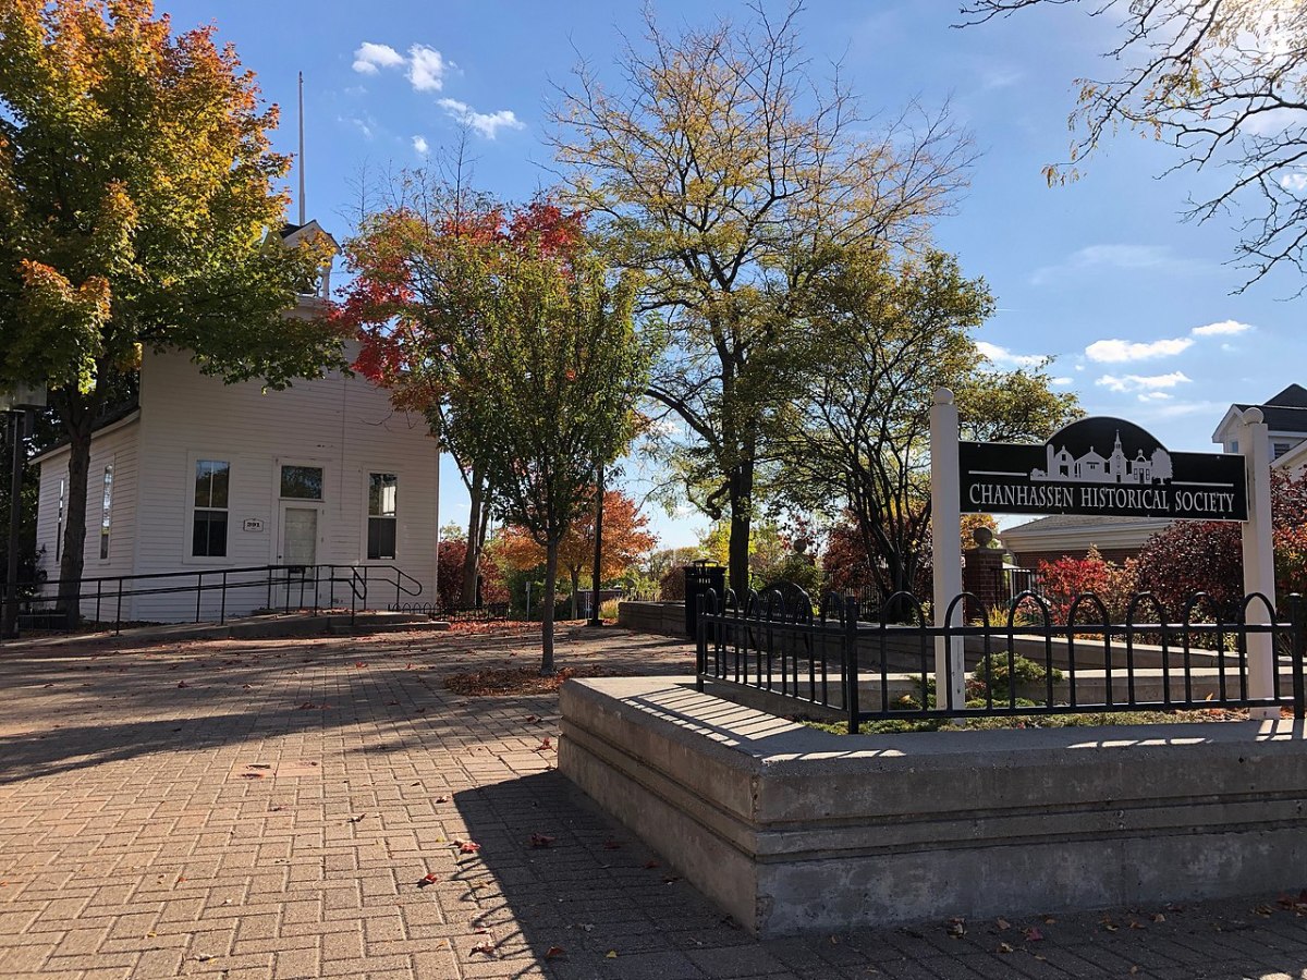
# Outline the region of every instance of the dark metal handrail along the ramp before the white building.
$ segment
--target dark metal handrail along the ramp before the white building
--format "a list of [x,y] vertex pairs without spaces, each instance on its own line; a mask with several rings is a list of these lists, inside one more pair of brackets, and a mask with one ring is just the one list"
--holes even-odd
[[[278,574],[280,572],[280,574]],[[387,572],[379,576],[374,572]],[[231,581],[237,575],[259,575],[260,578]],[[167,585],[165,581],[176,579],[195,579],[192,584]],[[208,579],[208,581],[205,581]],[[203,622],[203,597],[205,592],[221,592],[218,608],[218,623],[226,622],[227,593],[234,589],[260,588],[267,591],[267,608],[291,608],[291,593],[295,584],[299,587],[299,602],[295,608],[308,608],[305,604],[308,585],[312,585],[312,614],[322,609],[319,591],[323,585],[342,585],[350,592],[350,623],[356,621],[358,606],[367,608],[369,589],[371,585],[393,585],[396,602],[401,595],[418,596],[422,593],[422,583],[393,564],[254,564],[238,568],[196,568],[176,572],[141,572],[137,575],[95,575],[82,578],[77,584],[78,589],[72,595],[60,595],[60,587],[71,583],[71,579],[51,579],[39,583],[43,595],[27,596],[22,598],[29,612],[33,606],[52,606],[60,601],[74,601],[78,608],[84,601],[95,601],[95,622],[99,622],[101,610],[106,601],[114,602],[114,632],[122,632],[123,598],[136,596],[161,596],[176,593],[195,593],[195,621]],[[139,583],[156,583],[146,588],[139,588]],[[116,588],[106,589],[106,583],[115,583]],[[33,588],[33,583],[17,583],[20,593]],[[94,589],[91,589],[94,587]],[[274,591],[285,587],[285,602],[273,604]],[[335,588],[331,593],[335,596]]]

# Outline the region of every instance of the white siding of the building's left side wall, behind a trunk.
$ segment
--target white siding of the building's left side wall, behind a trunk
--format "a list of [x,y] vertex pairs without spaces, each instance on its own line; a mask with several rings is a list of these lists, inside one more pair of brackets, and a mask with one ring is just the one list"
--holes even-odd
[[[140,423],[114,426],[91,440],[90,469],[86,480],[86,540],[82,549],[82,615],[89,619],[114,619],[119,610],[116,598],[108,598],[97,605],[94,593],[118,591],[114,580],[119,575],[135,572],[135,537],[137,523],[137,438]],[[112,468],[112,485],[108,493],[108,545],[107,557],[102,554],[102,525],[105,520],[105,470]],[[59,533],[59,483],[64,481],[67,511],[68,449],[51,453],[41,463],[41,503],[37,519],[37,547],[44,549],[41,568],[50,581],[59,578],[60,545]],[[64,516],[67,525],[67,512]],[[47,595],[56,587],[44,589]],[[123,600],[122,617],[135,618],[132,602]]]

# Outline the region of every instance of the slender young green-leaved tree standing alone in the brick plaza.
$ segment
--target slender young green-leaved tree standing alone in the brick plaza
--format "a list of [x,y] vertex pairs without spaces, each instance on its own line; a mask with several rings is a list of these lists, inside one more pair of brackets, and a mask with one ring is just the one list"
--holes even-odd
[[541,238],[459,243],[448,286],[464,328],[444,359],[448,413],[485,464],[495,510],[545,549],[541,673],[552,674],[559,545],[593,511],[596,465],[630,442],[650,351],[634,277],[612,277],[579,234],[562,248]]

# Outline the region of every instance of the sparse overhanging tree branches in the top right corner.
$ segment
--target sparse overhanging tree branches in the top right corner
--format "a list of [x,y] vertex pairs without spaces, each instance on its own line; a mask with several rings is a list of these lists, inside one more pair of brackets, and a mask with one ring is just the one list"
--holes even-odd
[[[971,22],[1068,0],[970,0]],[[1141,131],[1179,152],[1171,170],[1227,167],[1214,196],[1191,200],[1185,216],[1206,221],[1247,204],[1238,222],[1243,286],[1277,265],[1307,270],[1307,7],[1282,0],[1107,0],[1120,13],[1121,41],[1106,52],[1119,73],[1080,80],[1072,114],[1077,136],[1067,165],[1046,167],[1050,183],[1119,128]],[[1171,172],[1171,171],[1167,171]]]

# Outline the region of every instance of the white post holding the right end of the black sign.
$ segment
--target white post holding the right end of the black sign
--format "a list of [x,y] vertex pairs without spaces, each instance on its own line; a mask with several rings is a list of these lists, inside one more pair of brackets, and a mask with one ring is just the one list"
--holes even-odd
[[[1260,408],[1243,413],[1239,433],[1248,478],[1248,520],[1243,525],[1243,592],[1260,592],[1276,602],[1276,554],[1270,523],[1270,442]],[[1266,608],[1248,605],[1248,622],[1269,622]],[[1270,634],[1248,636],[1248,694],[1268,698],[1274,691],[1276,653]],[[1277,719],[1276,708],[1255,708],[1255,719]]]

